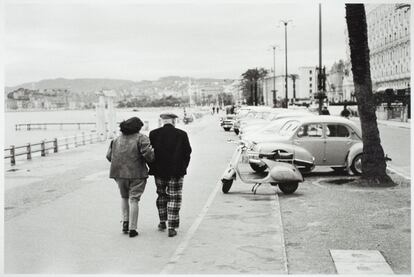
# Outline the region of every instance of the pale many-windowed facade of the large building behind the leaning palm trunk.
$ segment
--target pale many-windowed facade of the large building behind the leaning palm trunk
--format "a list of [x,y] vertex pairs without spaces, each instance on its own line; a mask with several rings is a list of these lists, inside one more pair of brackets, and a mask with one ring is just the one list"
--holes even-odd
[[[398,8],[395,4],[368,4],[365,12],[373,91],[410,87],[410,9]],[[354,100],[347,30],[345,33],[347,61],[343,94],[345,100]]]

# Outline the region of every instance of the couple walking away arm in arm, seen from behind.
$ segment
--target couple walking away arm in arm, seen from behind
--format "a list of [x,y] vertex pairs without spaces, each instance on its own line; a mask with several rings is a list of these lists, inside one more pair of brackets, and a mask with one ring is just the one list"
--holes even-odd
[[138,117],[121,122],[121,134],[111,141],[106,155],[111,162],[109,177],[121,193],[122,231],[130,237],[138,235],[138,203],[148,175],[154,175],[157,187],[158,230],[166,230],[168,222],[168,236],[177,235],[191,146],[187,133],[175,128],[175,114],[163,113],[160,118],[163,126],[152,130],[149,138],[140,133],[144,124]]

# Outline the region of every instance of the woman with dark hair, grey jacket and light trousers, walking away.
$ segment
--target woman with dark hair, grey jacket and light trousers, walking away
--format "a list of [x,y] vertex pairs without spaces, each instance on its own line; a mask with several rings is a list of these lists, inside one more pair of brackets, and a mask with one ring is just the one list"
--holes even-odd
[[138,235],[138,202],[148,178],[146,163],[154,160],[154,150],[149,138],[141,134],[144,124],[132,117],[119,125],[121,135],[111,141],[106,158],[111,162],[109,178],[115,179],[122,198],[122,231]]

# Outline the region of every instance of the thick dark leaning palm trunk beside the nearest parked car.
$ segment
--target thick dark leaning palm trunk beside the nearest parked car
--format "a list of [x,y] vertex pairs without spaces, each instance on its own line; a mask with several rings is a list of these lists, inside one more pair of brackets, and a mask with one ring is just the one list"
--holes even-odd
[[362,130],[362,178],[375,183],[389,182],[391,179],[386,174],[387,165],[375,115],[376,105],[372,93],[367,22],[363,4],[346,4],[346,23]]

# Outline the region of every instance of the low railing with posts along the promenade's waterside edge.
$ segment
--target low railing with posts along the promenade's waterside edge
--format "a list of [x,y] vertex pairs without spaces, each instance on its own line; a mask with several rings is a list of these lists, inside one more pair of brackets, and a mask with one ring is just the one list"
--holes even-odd
[[41,157],[45,157],[49,154],[49,150],[57,153],[62,147],[69,149],[86,145],[87,143],[92,144],[101,141],[104,141],[104,139],[98,133],[85,134],[85,132],[82,132],[74,136],[42,140],[38,143],[27,143],[21,146],[11,145],[9,148],[4,149],[4,159],[10,159],[10,165],[14,166],[16,165],[16,157],[18,156],[26,155],[26,159],[31,160],[33,153],[40,153]]

